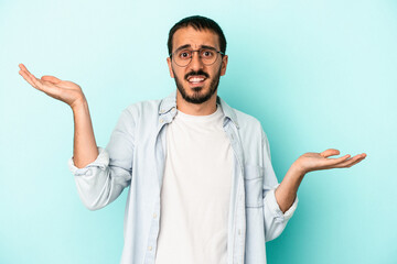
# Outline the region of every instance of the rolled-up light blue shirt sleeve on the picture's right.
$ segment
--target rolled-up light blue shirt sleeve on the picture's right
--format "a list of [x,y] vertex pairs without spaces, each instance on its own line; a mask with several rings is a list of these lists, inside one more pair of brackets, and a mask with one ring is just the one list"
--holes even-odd
[[269,141],[262,131],[262,154],[264,154],[264,215],[265,215],[265,239],[270,241],[279,237],[285,230],[289,219],[298,206],[298,196],[292,206],[282,212],[275,196],[279,186],[275,170],[271,165]]

